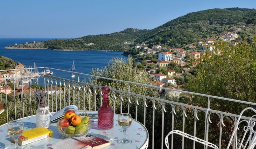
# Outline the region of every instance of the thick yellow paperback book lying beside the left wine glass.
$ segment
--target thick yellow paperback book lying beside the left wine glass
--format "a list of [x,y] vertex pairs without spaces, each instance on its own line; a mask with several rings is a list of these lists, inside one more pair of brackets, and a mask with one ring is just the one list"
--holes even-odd
[[[44,128],[44,127],[37,127],[29,130],[23,131],[22,135],[18,138],[19,145],[26,145],[38,140],[42,140],[47,137],[52,136],[52,130]],[[11,140],[14,139],[11,137]]]

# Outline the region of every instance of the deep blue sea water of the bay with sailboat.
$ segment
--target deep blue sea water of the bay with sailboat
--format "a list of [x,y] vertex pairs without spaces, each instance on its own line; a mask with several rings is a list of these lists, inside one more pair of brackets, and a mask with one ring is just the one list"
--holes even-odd
[[[0,38],[0,55],[11,58],[26,66],[50,67],[69,71],[72,67],[72,60],[75,63],[75,72],[87,73],[92,68],[102,68],[114,57],[127,59],[123,52],[105,51],[53,51],[51,49],[4,49],[8,45],[21,44],[33,41],[45,41],[49,38]],[[39,70],[39,72],[42,71]],[[54,76],[71,79],[70,73],[53,71]],[[77,75],[73,80],[77,80]],[[42,79],[39,80],[42,84]]]

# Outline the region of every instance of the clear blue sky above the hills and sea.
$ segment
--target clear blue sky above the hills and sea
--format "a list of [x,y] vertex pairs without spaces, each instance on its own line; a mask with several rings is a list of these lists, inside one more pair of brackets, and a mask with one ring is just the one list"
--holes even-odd
[[256,8],[256,0],[0,0],[0,37],[74,38],[153,29],[211,8]]

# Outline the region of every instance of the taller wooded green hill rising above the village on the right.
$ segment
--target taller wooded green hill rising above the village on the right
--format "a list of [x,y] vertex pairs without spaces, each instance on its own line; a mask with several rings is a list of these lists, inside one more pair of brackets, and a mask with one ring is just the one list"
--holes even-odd
[[255,24],[246,22],[252,18],[256,18],[255,9],[226,8],[192,12],[148,31],[135,42],[183,47],[223,31],[234,31],[251,40]]

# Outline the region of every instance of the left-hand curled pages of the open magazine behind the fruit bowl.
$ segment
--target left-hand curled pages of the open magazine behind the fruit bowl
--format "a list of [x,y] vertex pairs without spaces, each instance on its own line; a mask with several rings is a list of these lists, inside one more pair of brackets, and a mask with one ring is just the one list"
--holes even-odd
[[58,112],[54,113],[54,115],[52,117],[50,117],[50,123],[57,122],[57,121],[61,120],[64,117],[64,114],[67,110],[72,110],[76,113],[77,106],[69,105],[69,106],[59,110]]

